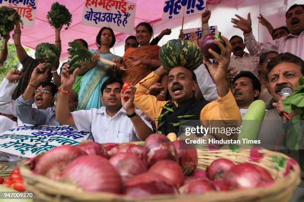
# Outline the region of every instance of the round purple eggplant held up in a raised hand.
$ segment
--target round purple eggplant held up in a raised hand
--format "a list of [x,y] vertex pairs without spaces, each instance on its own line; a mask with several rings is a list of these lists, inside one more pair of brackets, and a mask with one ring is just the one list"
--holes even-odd
[[214,56],[209,53],[208,49],[214,50],[218,54],[221,54],[221,49],[214,43],[215,39],[219,40],[225,46],[224,41],[221,39],[221,32],[205,35],[200,44],[202,55],[209,59],[214,58]]

